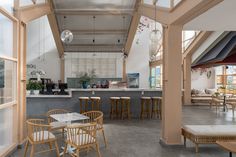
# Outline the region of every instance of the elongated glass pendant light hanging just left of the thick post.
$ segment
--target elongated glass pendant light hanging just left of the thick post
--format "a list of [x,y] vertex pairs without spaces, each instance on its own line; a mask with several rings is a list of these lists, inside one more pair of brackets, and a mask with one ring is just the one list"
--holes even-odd
[[160,44],[160,40],[162,38],[161,31],[157,29],[156,25],[156,4],[157,0],[154,0],[153,5],[155,6],[155,29],[151,31],[150,33],[150,47],[149,47],[149,54],[150,54],[150,59],[152,60],[158,53],[157,47]]

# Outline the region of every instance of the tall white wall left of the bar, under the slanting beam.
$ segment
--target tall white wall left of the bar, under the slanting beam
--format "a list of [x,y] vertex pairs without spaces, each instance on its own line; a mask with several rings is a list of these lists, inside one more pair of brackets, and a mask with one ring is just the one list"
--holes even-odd
[[60,80],[60,58],[47,16],[27,24],[27,64],[36,66],[27,69],[28,77],[31,71],[42,70],[46,72],[42,77]]

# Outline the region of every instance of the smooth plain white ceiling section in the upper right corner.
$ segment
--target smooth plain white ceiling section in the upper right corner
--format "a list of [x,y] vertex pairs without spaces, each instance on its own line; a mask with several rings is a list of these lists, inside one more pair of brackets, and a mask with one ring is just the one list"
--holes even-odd
[[224,0],[184,25],[184,30],[236,31],[236,0]]

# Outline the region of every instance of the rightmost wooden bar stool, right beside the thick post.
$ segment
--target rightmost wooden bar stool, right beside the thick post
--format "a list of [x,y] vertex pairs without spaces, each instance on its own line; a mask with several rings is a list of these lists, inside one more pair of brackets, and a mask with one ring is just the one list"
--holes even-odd
[[153,118],[153,116],[157,115],[159,117],[159,119],[161,119],[161,102],[162,102],[162,97],[152,97],[151,118]]

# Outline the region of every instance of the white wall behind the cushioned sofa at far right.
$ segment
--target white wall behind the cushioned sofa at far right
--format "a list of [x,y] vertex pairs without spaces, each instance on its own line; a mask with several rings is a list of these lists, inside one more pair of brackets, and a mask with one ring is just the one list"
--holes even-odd
[[[207,77],[207,72],[206,71],[211,71],[211,77]],[[206,69],[205,72],[201,73],[200,69],[197,70],[192,70],[191,73],[191,88],[192,89],[206,89],[210,88],[213,89],[215,88],[215,69],[214,68],[209,68]]]

